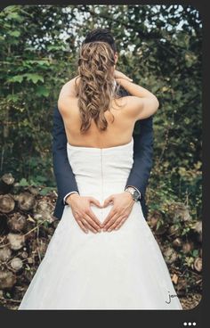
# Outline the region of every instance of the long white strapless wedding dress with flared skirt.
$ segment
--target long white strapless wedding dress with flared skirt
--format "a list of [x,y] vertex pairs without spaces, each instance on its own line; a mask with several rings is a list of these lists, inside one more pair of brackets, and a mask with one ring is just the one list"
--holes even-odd
[[[102,202],[122,193],[133,166],[130,143],[109,148],[67,143],[80,195]],[[111,207],[91,205],[102,222]],[[182,309],[140,202],[111,232],[85,234],[65,206],[18,309]]]

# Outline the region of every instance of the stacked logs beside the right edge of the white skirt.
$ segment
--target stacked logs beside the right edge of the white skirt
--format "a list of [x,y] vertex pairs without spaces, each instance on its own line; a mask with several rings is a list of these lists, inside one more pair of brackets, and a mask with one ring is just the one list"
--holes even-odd
[[159,244],[178,296],[202,291],[202,221],[180,202],[168,205],[166,216],[149,213],[149,226]]

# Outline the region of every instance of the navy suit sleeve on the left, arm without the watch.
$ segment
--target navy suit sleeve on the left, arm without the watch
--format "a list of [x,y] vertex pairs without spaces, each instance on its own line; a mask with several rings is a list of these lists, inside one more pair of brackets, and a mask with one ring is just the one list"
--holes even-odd
[[52,162],[59,201],[63,204],[64,197],[71,192],[78,192],[77,182],[69,164],[67,154],[67,136],[58,106],[53,111],[52,127]]

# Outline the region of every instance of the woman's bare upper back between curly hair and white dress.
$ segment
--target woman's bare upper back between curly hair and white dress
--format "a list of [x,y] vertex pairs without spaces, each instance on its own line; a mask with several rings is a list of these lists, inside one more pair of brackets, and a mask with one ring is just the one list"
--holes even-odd
[[[110,111],[104,113],[108,121],[106,131],[100,131],[92,119],[91,127],[85,132],[80,133],[81,119],[77,105],[78,98],[69,97],[65,102],[65,107],[61,110],[61,116],[64,122],[68,143],[74,146],[108,148],[117,145],[129,143],[133,135],[135,120],[128,114],[128,106],[124,98],[121,97],[111,102]],[[123,105],[123,106],[122,106]],[[114,116],[114,121],[113,116]]]

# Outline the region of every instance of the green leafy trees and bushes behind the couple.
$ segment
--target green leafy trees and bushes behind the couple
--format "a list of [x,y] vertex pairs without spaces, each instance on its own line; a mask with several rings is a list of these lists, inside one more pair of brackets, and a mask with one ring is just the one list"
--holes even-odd
[[[78,20],[79,16],[79,20]],[[158,96],[149,210],[201,216],[201,20],[190,5],[10,5],[0,13],[1,173],[55,186],[52,112],[88,30],[110,28],[118,70]]]

